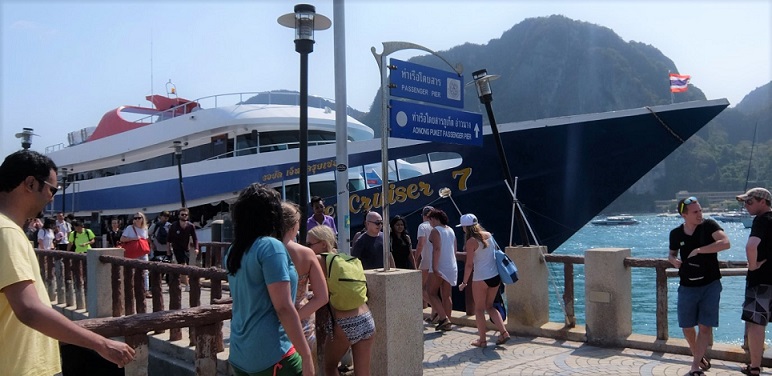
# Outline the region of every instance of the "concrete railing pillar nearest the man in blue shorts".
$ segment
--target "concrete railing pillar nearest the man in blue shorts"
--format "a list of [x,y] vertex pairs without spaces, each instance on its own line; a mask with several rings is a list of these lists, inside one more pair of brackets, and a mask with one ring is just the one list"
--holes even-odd
[[615,346],[633,331],[632,273],[624,260],[629,248],[584,253],[587,343]]

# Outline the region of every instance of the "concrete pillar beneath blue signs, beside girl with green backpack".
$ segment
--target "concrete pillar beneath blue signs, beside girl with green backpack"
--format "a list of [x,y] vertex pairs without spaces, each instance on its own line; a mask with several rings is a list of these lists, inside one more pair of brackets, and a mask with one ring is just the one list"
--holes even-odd
[[423,374],[424,333],[421,272],[365,270],[375,320],[372,375]]

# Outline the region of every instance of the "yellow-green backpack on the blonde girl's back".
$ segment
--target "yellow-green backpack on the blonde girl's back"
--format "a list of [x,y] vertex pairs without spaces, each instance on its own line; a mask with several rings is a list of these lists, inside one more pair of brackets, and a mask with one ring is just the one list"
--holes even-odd
[[348,311],[367,303],[367,279],[362,262],[341,253],[322,253],[322,258],[327,265],[327,289],[332,307]]

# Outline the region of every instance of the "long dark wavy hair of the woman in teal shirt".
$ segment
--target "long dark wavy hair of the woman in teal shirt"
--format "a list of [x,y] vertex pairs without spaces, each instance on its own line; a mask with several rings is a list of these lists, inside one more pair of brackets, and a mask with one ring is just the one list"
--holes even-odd
[[228,250],[228,274],[236,275],[241,259],[257,238],[273,236],[281,239],[282,209],[279,192],[263,184],[244,188],[231,208],[234,240]]

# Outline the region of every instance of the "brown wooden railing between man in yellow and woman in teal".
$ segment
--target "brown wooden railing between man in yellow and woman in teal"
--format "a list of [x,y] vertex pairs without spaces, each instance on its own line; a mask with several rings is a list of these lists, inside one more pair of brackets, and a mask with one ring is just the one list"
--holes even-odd
[[[101,263],[110,264],[112,298],[109,304],[112,305],[113,318],[94,318],[77,323],[108,337],[125,336],[132,347],[147,345],[147,333],[151,331],[162,333],[168,329],[169,341],[180,340],[181,328],[188,327],[190,346],[196,347],[197,374],[212,374],[208,362],[214,362],[217,353],[224,350],[223,320],[230,319],[231,315],[230,304],[214,305],[222,298],[223,281],[227,281],[227,272],[221,265],[228,245],[199,244],[205,252],[200,254],[197,263],[207,267],[99,255]],[[87,255],[58,250],[36,250],[36,253],[51,301],[89,311],[86,306]],[[153,313],[147,312],[144,271],[149,273]],[[168,310],[162,290],[164,275],[169,293]],[[187,309],[182,309],[181,276],[189,278],[190,291],[185,292],[190,307]],[[201,303],[202,288],[210,291],[209,302],[204,305]],[[204,347],[201,347],[202,344]],[[199,361],[207,364],[201,372],[198,371]]]

